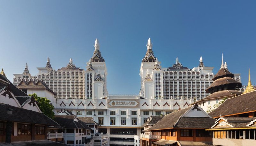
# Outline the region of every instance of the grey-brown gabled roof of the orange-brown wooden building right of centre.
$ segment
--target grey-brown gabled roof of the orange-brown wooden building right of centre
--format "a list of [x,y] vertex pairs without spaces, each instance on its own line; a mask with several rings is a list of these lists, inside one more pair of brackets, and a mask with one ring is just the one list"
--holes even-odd
[[[188,111],[191,110],[201,110],[197,105],[192,105],[184,109],[180,109],[176,112],[165,115],[159,122],[151,126],[150,130],[158,129],[171,129],[171,128],[197,128],[197,129],[206,129],[210,128],[215,119],[210,117],[186,117],[184,116]],[[204,112],[204,111],[203,111]],[[208,115],[209,116],[209,115]]]

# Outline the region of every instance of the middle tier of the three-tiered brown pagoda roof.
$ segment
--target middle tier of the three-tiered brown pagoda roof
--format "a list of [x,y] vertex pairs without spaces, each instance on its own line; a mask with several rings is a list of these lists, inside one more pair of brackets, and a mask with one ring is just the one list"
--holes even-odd
[[223,77],[215,80],[205,91],[214,93],[221,90],[237,90],[242,87],[242,83],[230,77]]

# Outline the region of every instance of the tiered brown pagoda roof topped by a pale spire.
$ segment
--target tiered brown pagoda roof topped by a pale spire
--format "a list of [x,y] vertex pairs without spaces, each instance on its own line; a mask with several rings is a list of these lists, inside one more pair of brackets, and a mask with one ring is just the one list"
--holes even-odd
[[213,83],[207,89],[205,89],[207,93],[210,93],[210,95],[207,96],[205,99],[209,99],[208,97],[212,96],[212,94],[223,94],[223,92],[225,93],[226,97],[242,94],[242,92],[236,91],[237,89],[242,87],[242,83],[234,80],[233,77],[235,75],[233,73],[230,73],[225,67],[226,66],[224,66],[222,55],[222,64],[220,70],[212,78]]

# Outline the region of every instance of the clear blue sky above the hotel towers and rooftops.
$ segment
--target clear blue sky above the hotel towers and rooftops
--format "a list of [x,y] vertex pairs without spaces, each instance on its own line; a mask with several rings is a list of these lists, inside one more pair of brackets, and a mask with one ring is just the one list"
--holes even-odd
[[12,81],[26,62],[32,75],[72,57],[85,69],[95,38],[108,68],[109,94],[138,94],[139,69],[150,37],[164,67],[178,56],[183,66],[220,69],[221,54],[232,73],[256,83],[256,1],[0,1],[0,67]]

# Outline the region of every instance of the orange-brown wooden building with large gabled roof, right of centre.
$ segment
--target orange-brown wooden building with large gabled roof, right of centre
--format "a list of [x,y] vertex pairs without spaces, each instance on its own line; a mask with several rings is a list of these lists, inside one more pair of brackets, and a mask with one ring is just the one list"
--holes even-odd
[[215,119],[197,105],[165,115],[159,122],[151,126],[150,135],[140,136],[140,145],[195,145],[212,143],[212,133],[205,131]]

